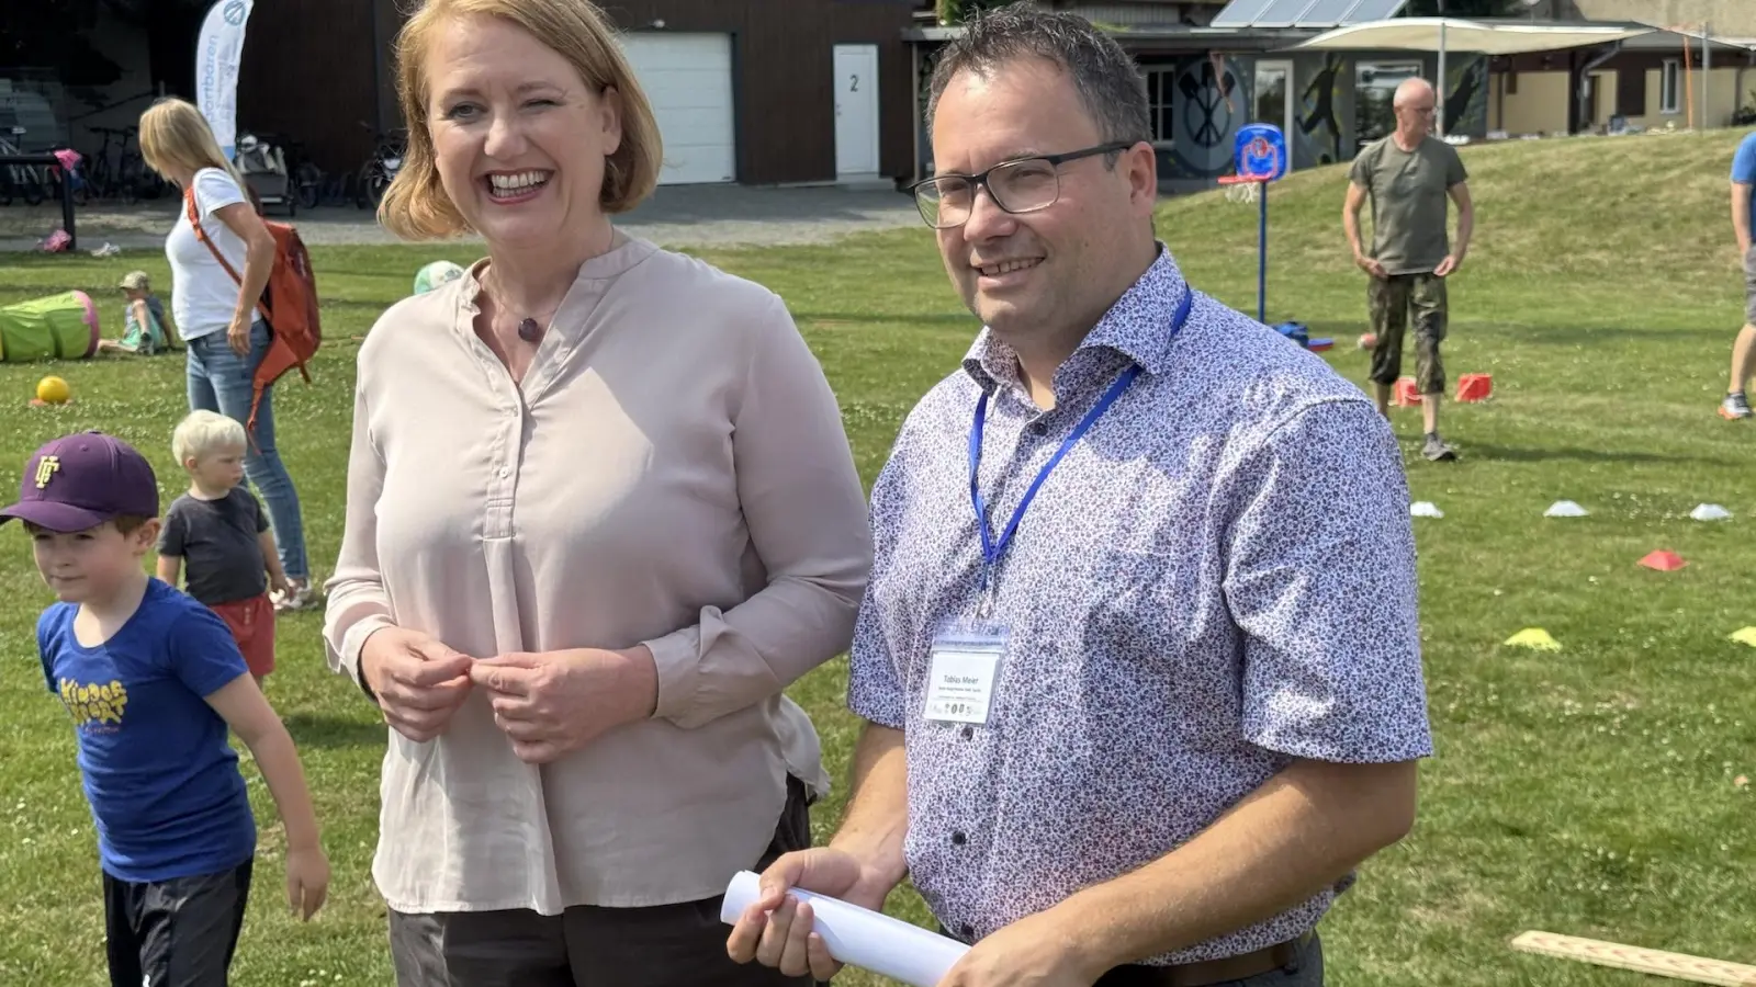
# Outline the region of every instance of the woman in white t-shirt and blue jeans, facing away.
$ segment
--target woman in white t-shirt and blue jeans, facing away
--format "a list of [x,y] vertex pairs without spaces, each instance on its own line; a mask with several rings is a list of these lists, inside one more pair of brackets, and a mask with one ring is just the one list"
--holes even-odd
[[[146,167],[184,191],[177,221],[165,237],[165,258],[170,262],[170,313],[188,349],[190,411],[216,411],[244,425],[251,378],[269,351],[269,325],[256,313],[256,300],[274,267],[274,237],[251,207],[244,177],[225,160],[195,104],[163,98],[148,107],[140,114],[140,156]],[[202,234],[237,279],[195,234],[191,193]],[[276,594],[276,609],[316,606],[299,490],[274,446],[272,386],[262,393],[249,439],[244,474],[269,508],[276,555],[288,581],[288,590]]]

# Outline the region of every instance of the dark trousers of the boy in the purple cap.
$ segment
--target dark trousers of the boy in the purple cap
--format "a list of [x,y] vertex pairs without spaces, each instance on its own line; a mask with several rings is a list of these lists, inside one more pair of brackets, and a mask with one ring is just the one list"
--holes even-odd
[[251,862],[153,883],[105,873],[111,987],[225,987],[244,927]]

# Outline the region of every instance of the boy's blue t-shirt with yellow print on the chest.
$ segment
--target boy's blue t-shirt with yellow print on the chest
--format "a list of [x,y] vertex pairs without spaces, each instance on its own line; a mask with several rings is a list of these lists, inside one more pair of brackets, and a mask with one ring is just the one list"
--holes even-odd
[[205,697],[249,674],[225,622],[160,580],[109,641],[74,636],[77,604],[37,622],[49,692],[74,717],[104,871],[163,882],[232,869],[256,852],[237,753]]

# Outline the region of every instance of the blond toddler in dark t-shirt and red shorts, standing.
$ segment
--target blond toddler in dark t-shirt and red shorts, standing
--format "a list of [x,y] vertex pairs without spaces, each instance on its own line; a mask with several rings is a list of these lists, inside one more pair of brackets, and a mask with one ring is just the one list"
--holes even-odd
[[170,451],[190,474],[190,492],[165,511],[158,578],[212,608],[232,629],[256,687],[274,671],[274,601],[286,573],[274,551],[269,515],[244,483],[244,427],[214,411],[191,411],[170,434]]

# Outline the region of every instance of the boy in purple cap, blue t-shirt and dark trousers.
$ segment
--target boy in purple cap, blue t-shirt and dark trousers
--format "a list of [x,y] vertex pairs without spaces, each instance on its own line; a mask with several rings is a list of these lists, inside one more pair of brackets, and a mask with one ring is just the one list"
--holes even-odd
[[37,622],[37,650],[74,718],[111,983],[223,987],[256,854],[228,729],[281,811],[293,911],[309,920],[328,890],[293,741],[220,616],[146,574],[158,479],[139,451],[102,432],[47,443],[0,509],[0,523],[12,518],[60,601]]

